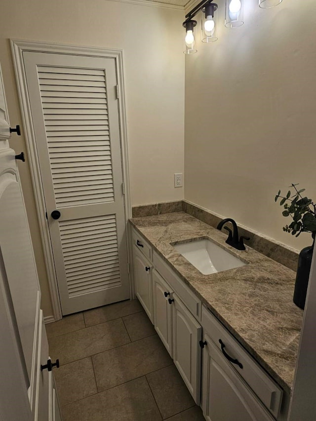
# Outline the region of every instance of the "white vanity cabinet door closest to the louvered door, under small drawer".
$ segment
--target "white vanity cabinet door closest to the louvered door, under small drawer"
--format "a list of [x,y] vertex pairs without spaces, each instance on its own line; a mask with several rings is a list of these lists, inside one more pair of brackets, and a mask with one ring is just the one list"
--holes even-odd
[[133,255],[136,296],[153,323],[152,265],[135,246],[133,247]]

